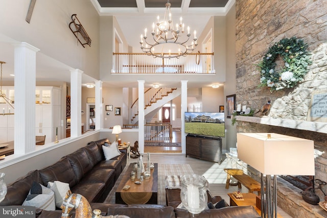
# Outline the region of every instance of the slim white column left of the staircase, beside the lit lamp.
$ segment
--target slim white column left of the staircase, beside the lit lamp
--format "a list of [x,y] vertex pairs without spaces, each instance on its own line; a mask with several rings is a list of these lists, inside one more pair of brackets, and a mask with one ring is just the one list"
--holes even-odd
[[144,80],[138,82],[138,151],[144,153]]

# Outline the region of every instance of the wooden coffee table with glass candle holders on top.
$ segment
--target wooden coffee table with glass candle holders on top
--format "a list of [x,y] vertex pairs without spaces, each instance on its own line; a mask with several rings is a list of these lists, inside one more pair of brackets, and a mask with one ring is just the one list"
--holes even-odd
[[[158,164],[154,164],[154,169],[151,169],[150,179],[144,179],[141,184],[135,184],[130,180],[130,173],[134,163],[131,163],[122,178],[121,183],[115,192],[116,204],[157,204],[158,202]],[[129,185],[128,190],[123,187]]]

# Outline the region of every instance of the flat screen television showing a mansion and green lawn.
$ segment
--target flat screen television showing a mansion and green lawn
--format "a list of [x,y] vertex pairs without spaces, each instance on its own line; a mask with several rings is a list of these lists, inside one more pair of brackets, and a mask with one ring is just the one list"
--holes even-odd
[[225,137],[225,114],[218,112],[185,112],[185,133]]

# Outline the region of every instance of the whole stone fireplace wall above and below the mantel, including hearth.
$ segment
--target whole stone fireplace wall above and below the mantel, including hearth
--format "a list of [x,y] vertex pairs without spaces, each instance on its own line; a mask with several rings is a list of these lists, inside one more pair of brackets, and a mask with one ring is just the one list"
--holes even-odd
[[[327,92],[327,4],[324,0],[265,0],[236,1],[236,102],[252,109],[260,109],[271,100],[268,117],[307,120],[312,93]],[[297,37],[309,45],[312,65],[304,81],[294,88],[270,92],[268,87],[259,88],[258,64],[268,48],[282,38]],[[283,61],[278,61],[283,64]],[[281,67],[279,65],[279,67]],[[278,68],[278,65],[276,66]],[[314,125],[314,123],[313,123]],[[237,132],[275,132],[315,142],[316,179],[327,181],[327,135],[313,131],[262,125],[238,121]],[[258,179],[255,170],[250,175]],[[326,217],[319,206],[304,202],[300,190],[286,181],[279,181],[278,206],[293,217]],[[326,191],[327,187],[324,187]],[[322,193],[320,199],[324,197]]]

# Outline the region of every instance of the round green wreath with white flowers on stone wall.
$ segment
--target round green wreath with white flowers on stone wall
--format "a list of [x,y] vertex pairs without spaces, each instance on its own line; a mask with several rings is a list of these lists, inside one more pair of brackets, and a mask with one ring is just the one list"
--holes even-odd
[[[308,45],[296,37],[284,38],[272,45],[263,60],[258,64],[260,70],[260,87],[268,86],[270,91],[294,87],[303,81],[308,72]],[[285,66],[275,69],[275,59],[279,56],[285,61]]]

